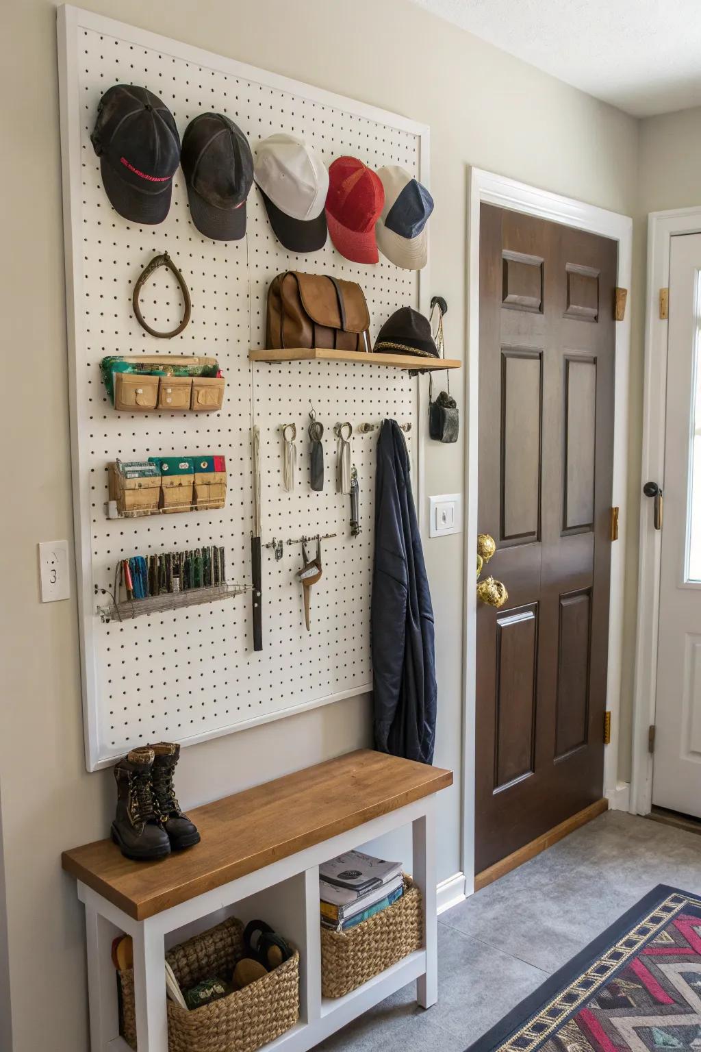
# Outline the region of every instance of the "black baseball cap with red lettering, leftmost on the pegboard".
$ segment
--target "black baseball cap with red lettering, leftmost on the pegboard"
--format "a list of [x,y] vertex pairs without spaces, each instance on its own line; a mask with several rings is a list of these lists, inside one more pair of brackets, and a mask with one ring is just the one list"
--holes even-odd
[[90,140],[120,216],[162,223],[180,164],[180,137],[165,103],[145,87],[115,84],[100,99]]

